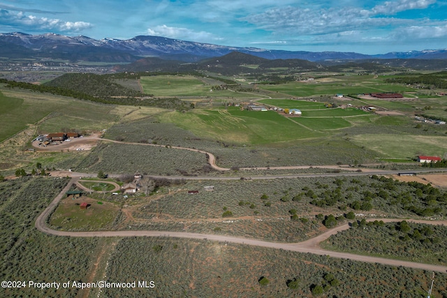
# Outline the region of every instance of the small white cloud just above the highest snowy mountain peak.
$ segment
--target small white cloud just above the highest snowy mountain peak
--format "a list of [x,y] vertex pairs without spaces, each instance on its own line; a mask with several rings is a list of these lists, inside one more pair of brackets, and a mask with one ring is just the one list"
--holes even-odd
[[168,27],[166,25],[148,28],[147,33],[154,36],[164,36],[168,38],[178,38],[182,40],[206,41],[221,40],[222,38],[214,36],[214,34],[206,31],[193,31],[181,27]]

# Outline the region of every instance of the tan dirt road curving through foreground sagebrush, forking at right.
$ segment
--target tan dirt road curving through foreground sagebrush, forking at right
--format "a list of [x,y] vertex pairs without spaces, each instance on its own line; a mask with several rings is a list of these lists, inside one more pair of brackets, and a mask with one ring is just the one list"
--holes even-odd
[[[339,225],[336,228],[329,230],[317,237],[309,239],[307,241],[302,241],[299,243],[281,243],[281,242],[269,242],[257,239],[247,239],[240,237],[232,237],[225,235],[217,235],[217,234],[199,234],[199,233],[191,233],[191,232],[163,232],[163,231],[145,231],[145,230],[129,230],[129,231],[98,231],[98,232],[66,232],[59,230],[50,229],[47,224],[47,218],[50,216],[52,211],[57,207],[57,204],[64,198],[66,191],[68,191],[71,187],[71,184],[75,184],[78,181],[78,178],[72,178],[71,181],[67,184],[67,186],[57,195],[56,198],[50,203],[50,205],[45,209],[40,216],[38,216],[35,226],[41,232],[46,234],[52,234],[56,236],[68,236],[68,237],[177,237],[177,238],[188,238],[188,239],[208,239],[212,241],[221,241],[235,244],[247,244],[252,246],[261,246],[266,248],[275,248],[275,249],[283,249],[286,251],[298,251],[300,253],[314,253],[316,255],[330,255],[333,258],[343,258],[349,260],[356,260],[360,262],[371,262],[371,263],[379,263],[383,265],[392,265],[392,266],[402,266],[402,267],[411,267],[416,269],[425,269],[428,271],[438,271],[438,272],[447,272],[446,266],[441,265],[430,265],[423,264],[417,262],[406,262],[402,260],[391,260],[386,258],[376,258],[370,257],[367,255],[355,255],[352,253],[339,253],[337,251],[326,251],[321,248],[318,244],[330,237],[331,234],[336,234],[341,230],[346,230],[349,228],[348,224]],[[372,219],[374,220],[374,219]],[[385,218],[382,219],[386,222],[391,221],[401,221],[400,219],[391,219]],[[413,221],[413,220],[409,220]],[[415,221],[418,223],[430,223],[434,225],[447,225],[447,221]]]

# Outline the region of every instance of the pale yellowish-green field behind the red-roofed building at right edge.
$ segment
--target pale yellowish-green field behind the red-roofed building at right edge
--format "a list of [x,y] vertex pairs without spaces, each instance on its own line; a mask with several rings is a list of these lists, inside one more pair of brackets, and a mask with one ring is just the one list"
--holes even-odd
[[447,137],[444,136],[372,134],[354,135],[352,141],[386,158],[442,157],[447,153]]

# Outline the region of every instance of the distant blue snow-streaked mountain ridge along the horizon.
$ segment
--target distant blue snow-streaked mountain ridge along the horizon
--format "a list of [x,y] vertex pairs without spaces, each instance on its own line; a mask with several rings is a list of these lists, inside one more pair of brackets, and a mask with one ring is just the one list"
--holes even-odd
[[160,36],[135,36],[127,40],[113,38],[95,40],[87,36],[70,37],[54,33],[41,35],[20,32],[0,33],[0,55],[7,58],[29,58],[31,55],[71,61],[132,62],[142,57],[159,57],[192,62],[221,57],[230,52],[242,52],[270,60],[447,59],[447,49],[366,55],[355,52],[293,52],[256,47],[229,47]]

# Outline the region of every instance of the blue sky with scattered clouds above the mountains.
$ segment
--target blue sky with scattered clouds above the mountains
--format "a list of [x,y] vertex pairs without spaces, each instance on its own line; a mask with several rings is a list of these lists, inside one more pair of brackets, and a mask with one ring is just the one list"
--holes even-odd
[[383,54],[446,49],[447,0],[0,0],[15,31]]

